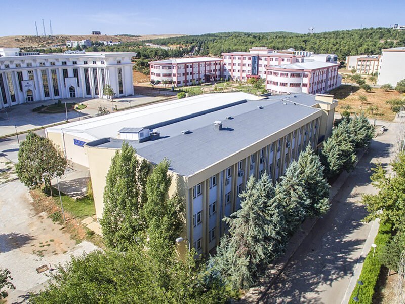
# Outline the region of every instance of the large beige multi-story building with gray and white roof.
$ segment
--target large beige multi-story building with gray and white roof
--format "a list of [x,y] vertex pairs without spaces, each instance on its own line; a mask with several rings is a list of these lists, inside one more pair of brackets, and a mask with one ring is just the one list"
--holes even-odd
[[86,159],[98,218],[124,141],[153,164],[168,158],[169,195],[185,201],[182,237],[207,254],[228,229],[222,219],[241,208],[249,176],[278,180],[308,144],[317,148],[330,135],[336,106],[331,95],[206,94],[48,128],[47,136],[68,159]]

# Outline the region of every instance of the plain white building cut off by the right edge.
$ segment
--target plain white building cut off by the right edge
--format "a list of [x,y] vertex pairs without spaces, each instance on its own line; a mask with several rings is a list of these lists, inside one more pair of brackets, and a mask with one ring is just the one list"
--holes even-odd
[[393,87],[405,79],[405,47],[382,50],[377,85],[390,84]]

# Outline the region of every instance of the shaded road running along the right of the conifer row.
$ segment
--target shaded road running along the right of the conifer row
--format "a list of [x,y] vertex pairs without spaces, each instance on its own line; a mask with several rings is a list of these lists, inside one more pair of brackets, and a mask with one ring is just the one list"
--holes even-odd
[[361,222],[366,210],[360,201],[361,194],[376,192],[370,184],[370,169],[377,162],[390,162],[398,124],[387,127],[372,141],[332,201],[331,210],[317,221],[263,303],[347,302],[378,228],[377,222]]

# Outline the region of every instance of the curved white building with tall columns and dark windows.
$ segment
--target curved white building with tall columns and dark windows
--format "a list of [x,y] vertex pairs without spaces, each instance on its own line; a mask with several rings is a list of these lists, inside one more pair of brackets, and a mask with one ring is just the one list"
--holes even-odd
[[14,55],[0,57],[0,109],[25,102],[63,98],[107,98],[134,94],[131,58],[136,53]]

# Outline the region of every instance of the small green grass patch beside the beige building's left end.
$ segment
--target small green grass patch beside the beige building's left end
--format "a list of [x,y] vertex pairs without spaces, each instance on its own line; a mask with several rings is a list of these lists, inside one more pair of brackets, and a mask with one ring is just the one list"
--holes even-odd
[[[53,188],[54,201],[56,205],[60,205],[58,189]],[[80,199],[72,199],[71,197],[60,193],[62,197],[63,209],[68,212],[72,217],[88,217],[96,214],[96,208],[94,207],[94,200],[85,196]]]

